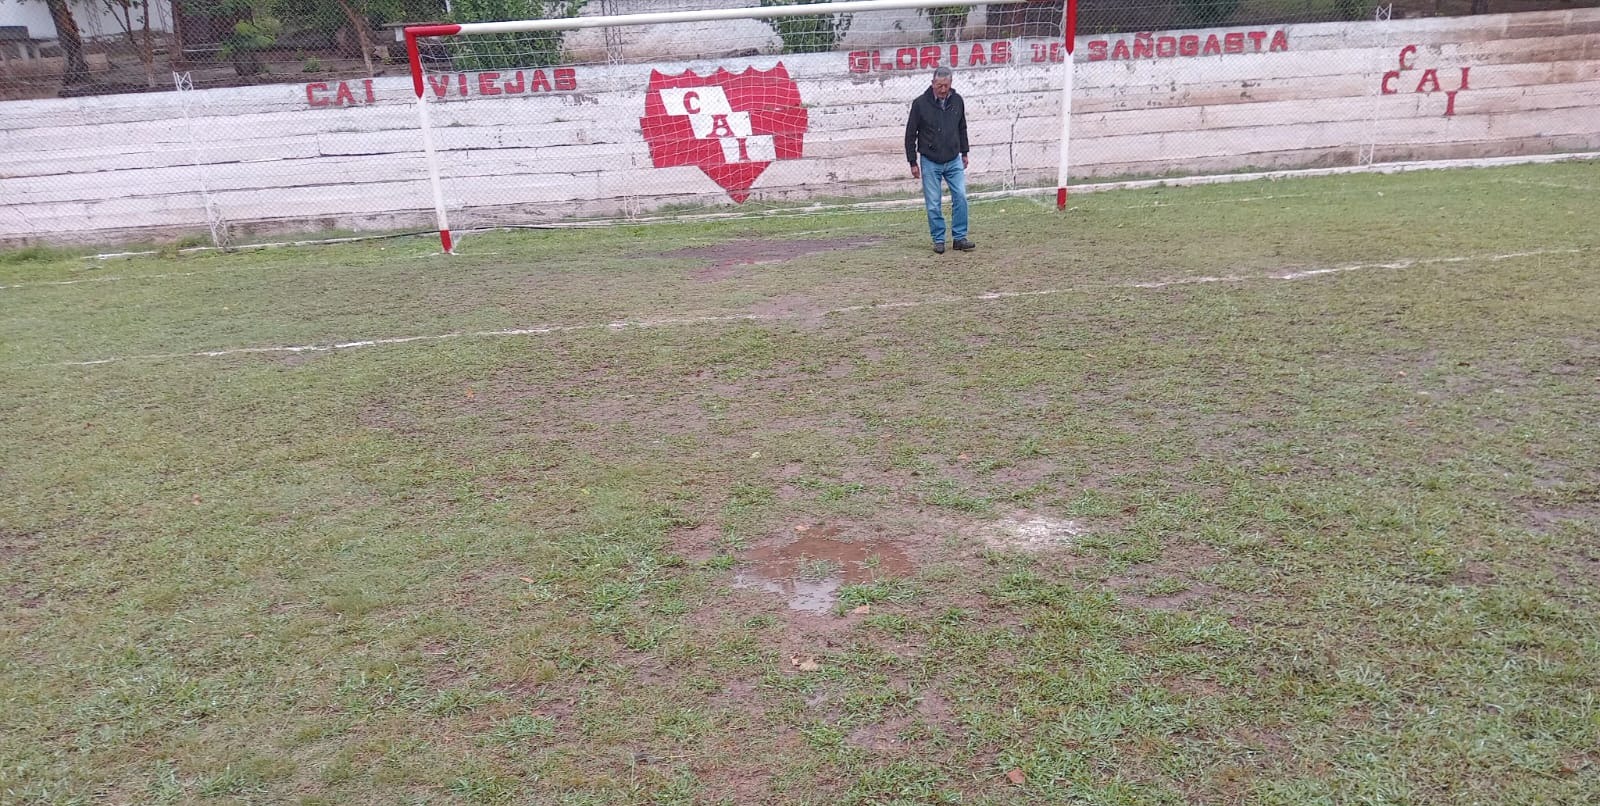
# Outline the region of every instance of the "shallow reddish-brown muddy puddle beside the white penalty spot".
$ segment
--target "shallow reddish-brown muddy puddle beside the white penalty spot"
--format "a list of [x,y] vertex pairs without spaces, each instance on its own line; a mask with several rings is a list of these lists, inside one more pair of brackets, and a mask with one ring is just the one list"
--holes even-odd
[[733,574],[733,587],[778,593],[792,611],[827,612],[846,584],[910,574],[899,545],[842,542],[840,534],[837,526],[814,526],[790,544],[754,549]]

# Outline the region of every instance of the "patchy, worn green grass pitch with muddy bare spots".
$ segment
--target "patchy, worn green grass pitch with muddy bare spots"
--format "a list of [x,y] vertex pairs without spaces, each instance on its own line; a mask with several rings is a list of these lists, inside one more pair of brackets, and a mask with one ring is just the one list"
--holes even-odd
[[1597,189],[0,259],[0,801],[1584,803]]

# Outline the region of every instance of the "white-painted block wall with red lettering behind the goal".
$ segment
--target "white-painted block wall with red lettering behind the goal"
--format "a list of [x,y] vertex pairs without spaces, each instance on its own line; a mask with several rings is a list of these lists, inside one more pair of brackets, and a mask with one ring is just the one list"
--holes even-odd
[[[1282,30],[1288,50],[1090,61],[1099,38],[1080,38],[1074,178],[1600,150],[1600,10],[1264,30]],[[1181,34],[1230,32],[1245,34]],[[1059,66],[1030,61],[1048,42],[1008,45],[1019,62],[957,72],[973,182],[1048,184]],[[901,139],[926,70],[851,74],[845,53],[579,67],[570,93],[458,99],[451,78],[434,122],[453,225],[728,205],[699,168],[651,165],[638,123],[651,67],[706,75],[778,61],[810,130],[803,158],[771,163],[749,205],[915,195]],[[342,107],[334,86],[307,85],[3,104],[0,243],[203,230],[202,186],[235,229],[427,227],[411,98],[408,77],[384,77],[371,104],[357,83]]]

